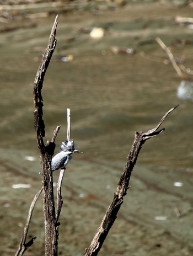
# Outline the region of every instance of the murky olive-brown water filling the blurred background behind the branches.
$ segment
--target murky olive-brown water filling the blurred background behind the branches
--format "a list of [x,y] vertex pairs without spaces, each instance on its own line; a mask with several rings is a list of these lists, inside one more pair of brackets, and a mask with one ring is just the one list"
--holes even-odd
[[[62,125],[57,151],[71,108],[72,138],[84,152],[66,171],[59,252],[83,254],[114,195],[135,131],[152,129],[180,104],[164,121],[165,132],[143,146],[99,255],[191,255],[192,98],[179,96],[183,82],[154,38],[162,38],[191,68],[192,45],[175,42],[190,39],[192,30],[177,26],[174,18],[190,17],[192,9],[157,1],[104,7],[59,15],[57,47],[42,91],[46,139]],[[54,18],[1,24],[1,255],[17,249],[29,204],[41,186],[32,91]],[[93,26],[102,29],[98,39],[89,34]],[[8,30],[13,27],[19,29]],[[30,188],[12,187],[19,183]],[[42,255],[41,200],[33,216],[29,236],[37,241],[28,255]]]

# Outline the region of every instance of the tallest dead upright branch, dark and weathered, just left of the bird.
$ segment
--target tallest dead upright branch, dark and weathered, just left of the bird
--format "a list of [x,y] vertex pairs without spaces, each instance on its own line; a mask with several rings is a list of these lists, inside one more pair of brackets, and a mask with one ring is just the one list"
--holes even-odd
[[[37,144],[40,151],[40,165],[42,174],[42,185],[44,186],[42,199],[44,207],[44,219],[45,219],[45,255],[56,256],[57,255],[57,239],[58,228],[56,223],[55,204],[53,197],[53,176],[51,170],[51,157],[55,149],[54,142],[47,142],[44,145],[43,137],[45,136],[44,120],[42,119],[43,111],[43,99],[41,95],[41,89],[43,86],[44,76],[49,66],[53,51],[56,47],[56,28],[57,28],[57,16],[51,30],[49,43],[47,49],[42,56],[40,66],[37,70],[37,74],[34,81],[34,125],[37,134]],[[56,130],[57,135],[57,130]],[[55,135],[52,141],[55,140]]]

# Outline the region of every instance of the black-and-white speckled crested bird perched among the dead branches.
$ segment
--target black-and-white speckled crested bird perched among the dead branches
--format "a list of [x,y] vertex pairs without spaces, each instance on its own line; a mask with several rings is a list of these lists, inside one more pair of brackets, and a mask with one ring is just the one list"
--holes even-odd
[[52,172],[58,169],[66,169],[68,162],[72,159],[73,153],[79,153],[79,150],[74,149],[74,141],[63,141],[60,146],[60,152],[52,158],[51,167]]

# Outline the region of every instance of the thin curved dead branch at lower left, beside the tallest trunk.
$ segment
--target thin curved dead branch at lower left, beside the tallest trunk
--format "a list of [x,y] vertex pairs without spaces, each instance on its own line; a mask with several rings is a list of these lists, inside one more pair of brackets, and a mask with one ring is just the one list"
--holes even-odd
[[34,206],[35,206],[35,203],[36,203],[37,199],[39,198],[42,190],[43,190],[43,188],[41,188],[40,191],[37,192],[37,194],[34,196],[34,200],[31,202],[28,217],[27,217],[25,227],[24,227],[24,231],[23,231],[22,240],[19,244],[19,248],[18,248],[18,251],[15,254],[15,256],[22,256],[24,254],[25,250],[28,249],[31,246],[31,244],[34,243],[34,241],[36,239],[36,237],[33,237],[33,238],[30,239],[30,241],[28,243],[25,243],[26,242],[26,237],[27,237],[27,234],[28,234],[28,230],[29,230],[31,216],[32,216],[32,213],[33,213],[33,210],[34,210]]

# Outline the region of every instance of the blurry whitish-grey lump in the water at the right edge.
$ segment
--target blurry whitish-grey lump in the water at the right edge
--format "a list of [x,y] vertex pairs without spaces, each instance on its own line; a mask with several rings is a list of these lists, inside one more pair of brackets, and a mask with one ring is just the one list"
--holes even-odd
[[193,82],[183,80],[177,90],[179,99],[187,99],[193,101]]

